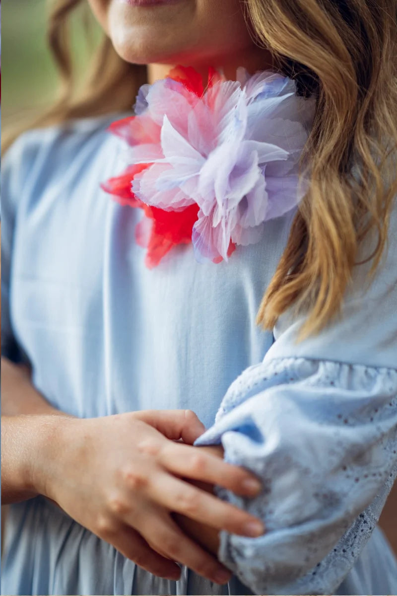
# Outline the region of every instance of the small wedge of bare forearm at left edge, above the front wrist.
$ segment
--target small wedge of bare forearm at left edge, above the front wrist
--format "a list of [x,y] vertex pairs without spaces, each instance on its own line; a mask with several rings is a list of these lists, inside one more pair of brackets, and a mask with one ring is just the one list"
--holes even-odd
[[1,359],[1,413],[5,416],[63,414],[33,387],[30,371],[8,358]]

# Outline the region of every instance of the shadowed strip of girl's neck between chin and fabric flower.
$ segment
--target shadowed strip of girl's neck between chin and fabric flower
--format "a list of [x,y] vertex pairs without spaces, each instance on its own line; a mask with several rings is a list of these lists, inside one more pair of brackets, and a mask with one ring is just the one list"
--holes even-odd
[[[152,83],[157,80],[165,79],[174,66],[176,66],[176,64],[148,64],[148,82],[152,85]],[[236,70],[239,66],[244,67],[251,75],[253,75],[258,70],[273,70],[273,60],[270,52],[255,46],[254,51],[251,49],[245,53],[239,52],[238,57],[231,56],[221,59],[218,58],[214,59],[212,62],[205,61],[199,64],[182,63],[182,66],[193,66],[195,70],[201,73],[203,81],[206,82],[208,78],[208,68],[210,66],[217,70],[222,70],[226,79],[236,80]]]

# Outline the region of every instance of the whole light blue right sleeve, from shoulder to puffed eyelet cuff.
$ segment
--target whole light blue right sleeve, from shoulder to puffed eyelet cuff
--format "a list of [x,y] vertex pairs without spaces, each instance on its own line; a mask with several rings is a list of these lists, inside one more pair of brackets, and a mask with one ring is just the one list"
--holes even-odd
[[195,442],[221,443],[262,480],[254,499],[216,489],[265,523],[259,538],[220,534],[220,560],[255,594],[335,593],[396,478],[396,231],[393,212],[376,278],[365,285],[358,267],[342,316],[320,334],[296,343],[302,319],[279,322]]

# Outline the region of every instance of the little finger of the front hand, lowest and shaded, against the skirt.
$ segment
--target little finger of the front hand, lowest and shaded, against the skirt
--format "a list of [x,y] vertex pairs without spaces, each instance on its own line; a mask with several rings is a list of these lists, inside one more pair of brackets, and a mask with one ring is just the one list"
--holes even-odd
[[108,536],[107,539],[124,557],[131,559],[149,573],[174,581],[180,578],[179,566],[152,550],[132,527],[123,524],[117,532],[114,532],[114,536]]

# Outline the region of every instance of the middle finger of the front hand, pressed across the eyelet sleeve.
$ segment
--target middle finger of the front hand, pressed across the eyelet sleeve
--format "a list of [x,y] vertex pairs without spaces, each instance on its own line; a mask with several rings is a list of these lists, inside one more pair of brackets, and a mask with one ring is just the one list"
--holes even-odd
[[168,510],[218,530],[251,538],[264,533],[264,526],[256,517],[167,473],[159,472],[147,491],[153,501]]

